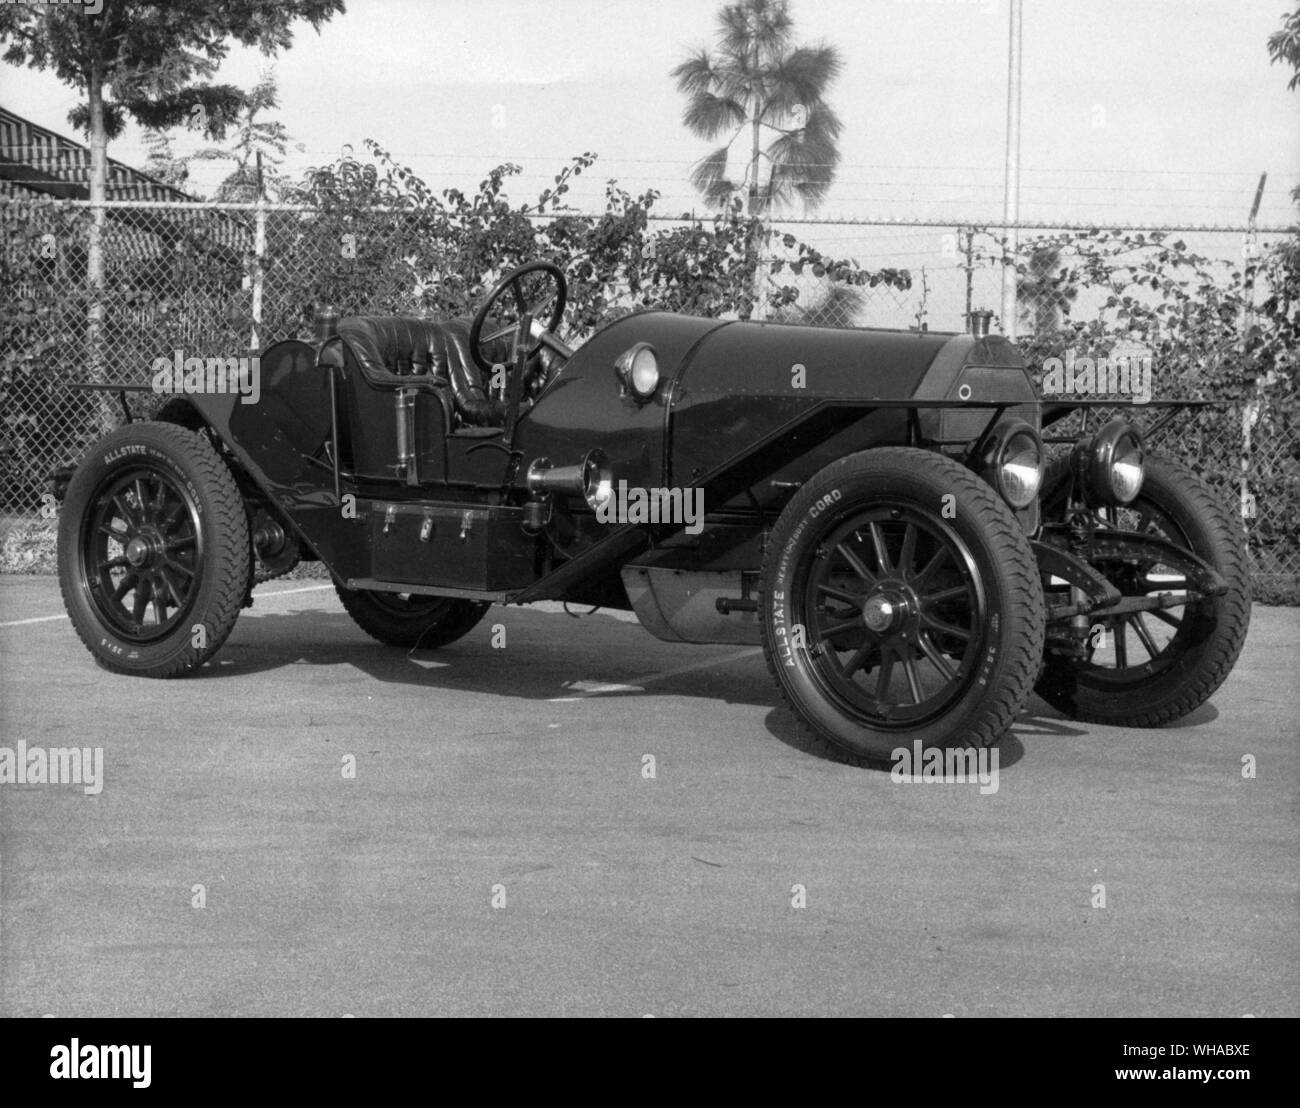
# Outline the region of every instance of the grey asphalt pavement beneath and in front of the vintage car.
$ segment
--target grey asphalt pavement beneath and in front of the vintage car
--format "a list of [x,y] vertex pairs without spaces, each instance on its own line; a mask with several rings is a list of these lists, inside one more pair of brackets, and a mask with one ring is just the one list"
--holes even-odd
[[151,681],[0,577],[0,746],[103,750],[0,784],[0,1014],[1294,1017],[1297,640],[1257,606],[1175,727],[1034,700],[992,791],[819,758],[758,649],[623,614],[408,657],[274,581]]

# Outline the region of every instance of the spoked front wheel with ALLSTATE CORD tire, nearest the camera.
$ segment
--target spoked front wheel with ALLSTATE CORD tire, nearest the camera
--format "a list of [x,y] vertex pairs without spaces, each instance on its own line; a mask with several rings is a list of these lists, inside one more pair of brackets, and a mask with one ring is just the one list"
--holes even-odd
[[[887,626],[870,628],[868,609]],[[997,743],[1043,654],[1039,571],[1015,516],[926,450],[868,450],[807,481],[768,540],[759,611],[768,670],[811,745],[857,765],[916,741]]]

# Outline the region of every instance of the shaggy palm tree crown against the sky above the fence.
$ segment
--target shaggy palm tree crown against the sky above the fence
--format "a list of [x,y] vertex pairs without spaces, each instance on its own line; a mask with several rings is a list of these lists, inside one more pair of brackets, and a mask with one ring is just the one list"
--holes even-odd
[[[796,198],[816,207],[840,161],[840,118],[826,92],[844,62],[824,43],[792,44],[789,0],[740,0],[718,14],[718,52],[701,48],[672,70],[686,98],[682,122],[710,142],[727,140],[692,170],[692,183],[712,203],[744,191],[748,213],[760,216]],[[728,176],[732,147],[746,164]]]

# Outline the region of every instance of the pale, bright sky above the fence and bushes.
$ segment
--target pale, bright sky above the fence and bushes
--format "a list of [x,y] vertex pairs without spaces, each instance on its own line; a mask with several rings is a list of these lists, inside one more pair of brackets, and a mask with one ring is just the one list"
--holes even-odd
[[[1300,181],[1300,92],[1265,39],[1294,0],[1026,0],[1026,218],[1242,222],[1261,170],[1261,220],[1287,222]],[[377,139],[436,187],[523,163],[536,195],[594,151],[576,203],[604,178],[698,203],[686,173],[706,143],[681,126],[668,70],[715,34],[714,0],[348,0],[274,61],[291,169]],[[997,217],[1006,108],[1006,0],[794,0],[800,39],[826,39],[845,72],[831,92],[845,131],[827,216]],[[221,79],[268,62],[233,53]],[[0,68],[0,101],[69,133],[75,94]],[[182,150],[198,144],[178,133]],[[299,148],[300,146],[300,148]],[[138,130],[114,143],[140,164]],[[198,178],[204,187],[209,176]]]

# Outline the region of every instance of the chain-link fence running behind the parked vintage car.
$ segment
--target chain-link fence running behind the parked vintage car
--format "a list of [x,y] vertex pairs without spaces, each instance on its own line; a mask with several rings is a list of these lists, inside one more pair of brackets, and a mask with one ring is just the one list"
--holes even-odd
[[[0,570],[48,570],[56,505],[49,473],[75,462],[121,420],[110,393],[77,384],[148,384],[159,356],[246,356],[273,341],[311,338],[312,320],[330,304],[341,313],[425,312],[434,300],[468,310],[493,273],[439,272],[412,242],[400,218],[370,220],[363,235],[339,231],[307,208],[272,205],[110,203],[101,211],[104,278],[98,297],[87,282],[94,218],[86,203],[0,196]],[[660,217],[651,216],[651,220]],[[666,226],[681,221],[664,221]],[[543,229],[546,220],[534,221]],[[376,226],[386,230],[376,231]],[[653,230],[654,224],[650,225]],[[757,284],[785,290],[779,308],[759,297],[755,315],[828,326],[965,330],[971,310],[988,308],[994,328],[1014,333],[1043,377],[1049,356],[1070,355],[1078,328],[1100,320],[1112,291],[1087,265],[1084,248],[1104,238],[1084,231],[1062,246],[1067,228],[1018,229],[1011,326],[1001,319],[1008,233],[974,222],[777,222]],[[1247,304],[1264,290],[1249,281],[1244,260],[1268,251],[1280,234],[1247,228],[1145,229],[1157,260],[1178,242],[1201,259],[1193,294],[1244,291]],[[852,259],[863,272],[906,270],[907,282],[832,281],[819,264],[792,267],[776,248],[783,237],[810,243],[828,257]],[[1131,246],[1131,239],[1127,239]],[[1046,247],[1041,243],[1048,243]],[[1043,251],[1049,251],[1044,255]],[[1161,255],[1161,251],[1165,254]],[[768,261],[784,259],[784,265]],[[1179,259],[1174,259],[1178,261]],[[580,259],[571,259],[577,264]],[[1173,263],[1171,263],[1173,264]],[[1150,270],[1148,270],[1150,272]],[[1157,268],[1154,272],[1160,272]],[[682,281],[689,281],[689,273]],[[451,287],[454,297],[447,295]],[[438,295],[433,297],[437,291]],[[645,289],[618,281],[594,291],[575,315],[569,338],[581,341],[601,317],[646,303]],[[593,299],[594,297],[594,299]],[[98,325],[88,326],[100,306]],[[597,311],[593,313],[592,303]],[[1248,312],[1247,312],[1248,313]],[[1238,334],[1249,320],[1225,320]],[[1075,336],[1071,339],[1071,336]],[[1114,354],[1114,350],[1105,352]],[[1175,416],[1153,443],[1206,477],[1234,505],[1248,538],[1257,596],[1300,602],[1300,447],[1294,373],[1231,382],[1231,343],[1175,352],[1132,349],[1152,359],[1147,380],[1160,399],[1225,401]],[[1214,362],[1214,365],[1209,365]],[[1214,372],[1210,372],[1210,371]],[[164,398],[129,394],[135,415]],[[1152,419],[1158,415],[1153,410]],[[1076,419],[1076,417],[1075,417]],[[1070,424],[1075,427],[1076,423]]]

